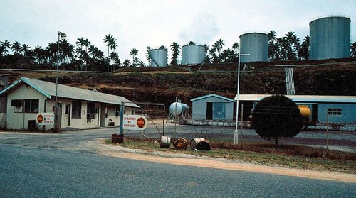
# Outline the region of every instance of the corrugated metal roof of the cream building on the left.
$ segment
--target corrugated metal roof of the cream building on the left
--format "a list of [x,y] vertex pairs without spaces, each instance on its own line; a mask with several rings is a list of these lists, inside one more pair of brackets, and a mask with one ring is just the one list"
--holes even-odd
[[[8,92],[13,87],[16,87],[20,82],[24,82],[30,85],[31,87],[33,87],[33,89],[36,89],[38,92],[41,92],[41,94],[45,95],[48,98],[56,97],[56,83],[46,82],[46,81],[31,79],[26,77],[22,77],[18,81],[14,82],[14,84],[11,84],[11,86],[7,87],[2,92],[0,92],[0,95],[4,94],[5,92]],[[105,104],[117,104],[117,105],[120,105],[121,102],[123,101],[125,102],[125,106],[140,107],[132,103],[130,100],[126,99],[125,97],[94,92],[87,89],[70,87],[63,84],[58,84],[57,97],[66,98],[66,99],[78,99],[82,101],[93,101],[93,102],[99,102]]]

